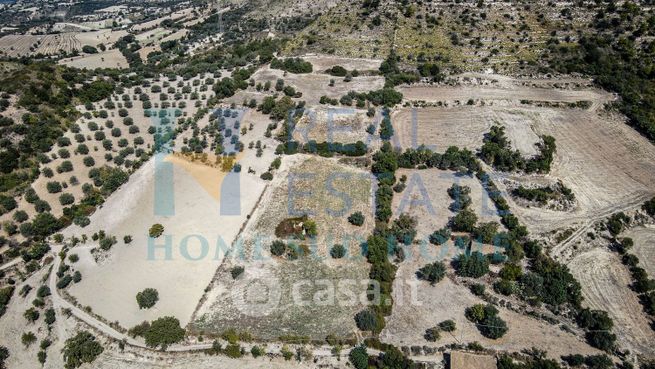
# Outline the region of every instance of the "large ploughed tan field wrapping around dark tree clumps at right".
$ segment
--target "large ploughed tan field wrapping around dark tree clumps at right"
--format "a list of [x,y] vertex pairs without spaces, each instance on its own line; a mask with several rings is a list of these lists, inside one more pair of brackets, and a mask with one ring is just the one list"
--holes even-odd
[[[571,92],[535,90],[564,100],[562,94]],[[553,136],[557,152],[548,175],[492,173],[501,190],[506,190],[505,178],[528,186],[561,180],[572,189],[577,207],[570,211],[522,207],[508,198],[529,230],[544,234],[608,216],[655,194],[655,147],[626,125],[624,117],[596,110],[604,94],[598,96],[601,100],[589,110],[530,105],[404,108],[392,115],[393,142],[404,148],[426,144],[444,151],[456,145],[475,151],[484,133],[501,125],[512,146],[528,157],[534,155],[539,136]]]

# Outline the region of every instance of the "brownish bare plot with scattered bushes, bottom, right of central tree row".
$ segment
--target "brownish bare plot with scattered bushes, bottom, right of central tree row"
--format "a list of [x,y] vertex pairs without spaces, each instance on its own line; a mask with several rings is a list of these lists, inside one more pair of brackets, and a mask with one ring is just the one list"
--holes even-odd
[[[468,321],[464,310],[474,304],[485,302],[474,296],[467,287],[444,278],[435,286],[418,281],[416,271],[427,261],[412,260],[400,264],[393,288],[394,306],[387,318],[385,329],[380,334],[383,342],[396,346],[427,345],[443,347],[448,344],[479,342],[495,350],[521,351],[542,347],[552,358],[561,355],[598,354],[580,338],[541,320],[514,311],[497,307],[499,316],[508,324],[509,330],[497,340],[482,336],[475,324]],[[444,320],[453,320],[457,329],[442,333],[435,343],[423,338],[425,330]]]

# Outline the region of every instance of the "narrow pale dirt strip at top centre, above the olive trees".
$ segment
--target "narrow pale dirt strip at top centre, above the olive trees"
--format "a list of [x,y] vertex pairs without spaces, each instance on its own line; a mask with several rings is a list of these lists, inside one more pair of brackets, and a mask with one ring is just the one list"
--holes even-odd
[[[377,90],[384,86],[384,77],[362,76],[355,77],[350,82],[344,82],[342,78],[332,77],[323,73],[294,74],[279,69],[264,67],[257,70],[253,76],[256,82],[271,82],[275,85],[278,79],[284,80],[285,85],[293,86],[296,91],[302,92],[301,100],[308,105],[318,105],[321,96],[339,99],[349,91],[368,92]],[[334,86],[330,87],[330,80],[334,80]]]

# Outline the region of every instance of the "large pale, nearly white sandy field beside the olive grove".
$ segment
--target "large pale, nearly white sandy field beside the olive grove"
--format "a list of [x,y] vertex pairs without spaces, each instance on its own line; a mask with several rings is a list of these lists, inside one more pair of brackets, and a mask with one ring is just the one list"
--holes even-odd
[[[219,202],[179,166],[174,168],[175,213],[156,215],[153,208],[155,160],[151,159],[139,169],[92,215],[88,228],[73,226],[64,232],[68,236],[79,236],[104,229],[119,238],[109,260],[80,265],[86,277],[71,288],[70,293],[82,305],[90,305],[95,313],[109,321],[119,321],[125,327],[163,315],[175,316],[185,325],[220,264],[221,256],[215,256],[219,238],[229,244],[245,220],[245,212],[235,216],[220,215]],[[261,180],[243,177],[240,186],[249,189],[242,191],[242,208],[254,206],[257,189],[263,189]],[[165,260],[162,249],[156,251],[154,260],[148,256],[147,230],[154,223],[165,227],[165,236],[157,239],[156,245],[165,244],[168,236],[171,238],[171,260]],[[134,241],[124,245],[120,240],[123,235],[132,235]],[[203,237],[206,245],[203,246],[195,235]],[[189,237],[188,252],[182,247],[185,237]],[[194,258],[200,260],[192,260]],[[160,301],[150,310],[139,310],[134,296],[146,287],[156,288]],[[99,288],[104,291],[101,295],[97,294]]]

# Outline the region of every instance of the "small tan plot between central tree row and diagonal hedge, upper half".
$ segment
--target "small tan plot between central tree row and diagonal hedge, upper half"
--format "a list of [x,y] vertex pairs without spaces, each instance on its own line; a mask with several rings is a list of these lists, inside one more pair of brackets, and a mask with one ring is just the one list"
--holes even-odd
[[393,197],[392,209],[395,217],[402,213],[416,217],[417,239],[427,242],[432,232],[447,226],[448,220],[455,216],[449,209],[453,200],[448,196],[448,188],[453,184],[471,188],[470,208],[480,222],[500,223],[495,205],[475,177],[439,169],[399,169],[396,172],[397,177],[403,175],[407,176],[407,188]]

